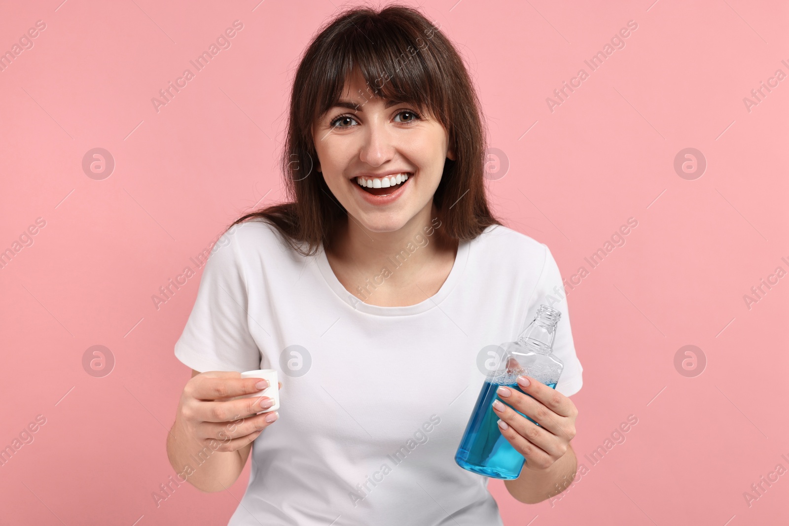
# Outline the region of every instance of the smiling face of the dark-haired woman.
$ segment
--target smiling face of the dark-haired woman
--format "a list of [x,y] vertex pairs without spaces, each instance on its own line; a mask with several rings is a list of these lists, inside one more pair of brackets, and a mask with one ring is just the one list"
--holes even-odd
[[432,115],[367,89],[361,75],[352,77],[338,106],[313,126],[317,170],[357,224],[393,232],[430,213],[444,160],[454,152]]

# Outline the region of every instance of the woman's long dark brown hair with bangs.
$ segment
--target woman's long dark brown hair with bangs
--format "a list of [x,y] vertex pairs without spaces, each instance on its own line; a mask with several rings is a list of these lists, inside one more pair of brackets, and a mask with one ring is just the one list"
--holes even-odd
[[231,226],[249,219],[270,222],[305,256],[320,244],[330,246],[333,226],[347,211],[323,177],[313,173],[312,125],[335,106],[354,72],[361,73],[371,96],[428,108],[447,129],[456,160],[445,160],[433,196],[444,234],[468,240],[500,225],[485,197],[485,129],[462,58],[421,13],[391,5],[380,11],[346,9],[312,39],[294,77],[280,161],[291,201],[243,215]]

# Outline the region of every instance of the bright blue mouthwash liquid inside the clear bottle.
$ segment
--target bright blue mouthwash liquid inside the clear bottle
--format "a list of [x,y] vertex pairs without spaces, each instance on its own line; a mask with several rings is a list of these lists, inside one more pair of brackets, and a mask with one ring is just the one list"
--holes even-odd
[[[499,375],[488,378],[484,382],[477,404],[474,405],[473,419],[469,421],[458,447],[458,453],[454,456],[454,461],[461,468],[495,479],[517,479],[520,476],[525,458],[501,434],[499,416],[493,410],[493,401],[496,399],[507,405],[507,399],[502,399],[496,394],[499,386],[507,386],[523,393],[518,382],[515,381],[517,378],[517,374]],[[555,389],[556,382],[545,385]],[[527,394],[527,396],[531,395]],[[517,411],[515,408],[513,410]],[[525,416],[519,411],[518,414]],[[529,416],[525,417],[540,425]]]

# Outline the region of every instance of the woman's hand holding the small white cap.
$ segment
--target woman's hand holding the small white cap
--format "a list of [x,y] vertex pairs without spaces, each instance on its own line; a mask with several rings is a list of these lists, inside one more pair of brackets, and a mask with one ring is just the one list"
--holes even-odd
[[[279,414],[255,414],[273,405],[269,397],[231,398],[257,393],[267,386],[266,380],[241,378],[241,373],[235,371],[207,371],[193,376],[178,402],[178,435],[215,451],[236,451],[248,446]],[[281,387],[279,382],[277,388]],[[215,447],[216,442],[219,447]]]

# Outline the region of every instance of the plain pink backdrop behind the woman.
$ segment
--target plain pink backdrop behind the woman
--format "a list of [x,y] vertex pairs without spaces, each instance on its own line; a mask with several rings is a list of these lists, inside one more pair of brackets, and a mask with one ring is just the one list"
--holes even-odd
[[[0,446],[47,419],[0,467],[2,522],[226,524],[249,464],[228,492],[151,497],[174,475],[165,436],[189,370],[173,345],[199,275],[159,310],[151,295],[282,197],[290,78],[336,8],[60,2],[0,8],[0,50],[47,24],[0,72],[0,251],[46,221],[0,269]],[[589,472],[538,505],[492,481],[505,524],[786,524],[789,475],[750,506],[743,492],[789,468],[789,278],[750,308],[743,295],[789,270],[789,80],[750,112],[742,99],[789,73],[787,4],[455,2],[421,3],[458,43],[509,159],[488,181],[495,211],[548,244],[565,278],[638,220],[568,297],[585,370],[573,445]],[[151,98],[234,20],[232,47],[157,113]],[[630,20],[626,47],[590,73],[583,61]],[[549,110],[581,68],[589,78]],[[102,181],[81,166],[94,147],[116,163]],[[708,164],[693,181],[673,167],[686,147]],[[110,375],[83,370],[92,345],[113,353]],[[675,368],[684,345],[704,353],[703,374]],[[626,441],[591,464],[629,415]]]

